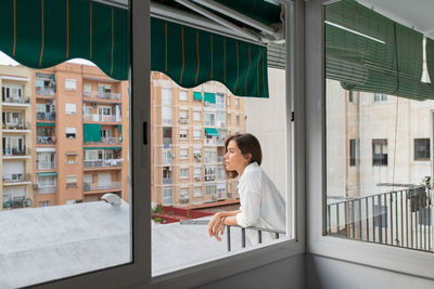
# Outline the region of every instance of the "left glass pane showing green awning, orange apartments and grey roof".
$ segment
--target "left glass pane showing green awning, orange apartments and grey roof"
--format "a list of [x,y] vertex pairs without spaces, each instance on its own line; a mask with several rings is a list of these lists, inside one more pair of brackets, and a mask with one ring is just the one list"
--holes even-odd
[[[17,27],[28,27],[31,23],[20,13],[40,15],[40,11],[29,10],[34,5],[30,2],[35,1],[16,3]],[[65,15],[66,3],[71,8],[69,55],[89,48],[77,47],[89,39],[88,36],[86,41],[78,40],[82,31],[77,35],[77,25],[84,24],[77,24],[81,17],[77,15],[89,15],[88,5],[92,3],[93,13],[101,19],[112,19],[112,8],[114,11],[113,26],[111,21],[94,23],[99,34],[114,34],[114,49],[107,44],[101,51],[94,43],[95,63],[75,58],[48,67],[52,60],[68,54],[66,34],[65,41],[61,41],[65,45],[56,54],[59,41],[49,31],[55,28],[53,21],[59,17],[52,17],[53,8],[47,2],[44,17],[54,28],[46,30],[43,55],[39,36],[25,38],[33,32],[20,36],[14,47],[16,61],[23,65],[7,56],[13,55],[12,51],[0,52],[3,116],[0,229],[8,235],[0,240],[1,288],[27,287],[131,262],[129,64],[99,62],[97,65],[99,60],[110,60],[110,55],[114,61],[130,58],[123,54],[129,50],[117,49],[120,43],[116,42],[120,39],[116,29],[120,29],[122,16],[128,29],[129,11],[128,6],[107,6],[94,1],[81,1],[82,5],[74,6],[77,2],[80,1],[55,3],[62,10],[59,13]],[[108,14],[103,17],[101,13],[105,12]],[[66,27],[65,22],[58,26]],[[0,27],[1,39],[8,29]],[[99,34],[93,36],[95,41]],[[34,58],[20,58],[24,54]],[[26,61],[41,62],[40,67],[48,68],[26,67]],[[125,69],[126,76],[110,77],[111,67],[113,76],[116,69]],[[100,158],[99,152],[105,157]]]

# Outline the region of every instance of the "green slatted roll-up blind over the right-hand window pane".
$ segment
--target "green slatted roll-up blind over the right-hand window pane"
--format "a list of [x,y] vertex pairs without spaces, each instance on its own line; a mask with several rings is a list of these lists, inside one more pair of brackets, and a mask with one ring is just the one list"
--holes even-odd
[[354,0],[326,6],[326,76],[346,90],[434,98],[421,82],[422,39]]

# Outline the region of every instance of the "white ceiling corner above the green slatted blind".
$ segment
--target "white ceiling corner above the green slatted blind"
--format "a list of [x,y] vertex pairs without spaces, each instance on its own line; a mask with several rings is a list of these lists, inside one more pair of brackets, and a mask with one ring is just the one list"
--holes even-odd
[[434,0],[358,0],[358,2],[434,39]]

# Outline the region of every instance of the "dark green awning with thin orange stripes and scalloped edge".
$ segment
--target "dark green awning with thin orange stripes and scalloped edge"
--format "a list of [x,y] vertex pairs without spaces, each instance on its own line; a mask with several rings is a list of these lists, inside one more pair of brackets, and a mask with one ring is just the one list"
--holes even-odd
[[[246,9],[265,23],[280,22],[276,17],[279,5],[256,0],[254,4],[228,6]],[[259,11],[259,6],[268,10]],[[0,50],[18,63],[47,68],[80,57],[97,64],[108,77],[128,79],[127,10],[90,0],[2,0],[0,11]],[[166,74],[181,87],[215,80],[235,95],[268,97],[264,45],[154,17],[151,40],[151,69]]]

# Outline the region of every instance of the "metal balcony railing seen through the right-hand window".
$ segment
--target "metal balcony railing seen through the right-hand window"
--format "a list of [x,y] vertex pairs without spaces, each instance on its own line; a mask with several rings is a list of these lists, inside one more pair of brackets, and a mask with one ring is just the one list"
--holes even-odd
[[433,192],[425,186],[327,205],[327,233],[433,251]]

